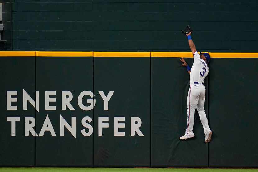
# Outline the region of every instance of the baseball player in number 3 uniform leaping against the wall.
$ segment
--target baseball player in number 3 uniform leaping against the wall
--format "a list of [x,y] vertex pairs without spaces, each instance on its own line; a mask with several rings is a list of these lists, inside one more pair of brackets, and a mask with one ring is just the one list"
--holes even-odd
[[190,88],[187,96],[187,128],[185,135],[180,137],[181,140],[186,140],[194,137],[193,125],[194,125],[194,111],[197,108],[202,126],[204,128],[205,143],[211,141],[212,132],[208,125],[208,119],[204,112],[204,100],[205,100],[205,86],[203,85],[204,78],[209,73],[208,62],[210,55],[208,53],[197,53],[193,40],[191,38],[191,32],[186,34],[190,49],[193,53],[194,63],[192,68],[186,63],[184,58],[180,61],[183,62],[182,66],[187,68],[190,74]]

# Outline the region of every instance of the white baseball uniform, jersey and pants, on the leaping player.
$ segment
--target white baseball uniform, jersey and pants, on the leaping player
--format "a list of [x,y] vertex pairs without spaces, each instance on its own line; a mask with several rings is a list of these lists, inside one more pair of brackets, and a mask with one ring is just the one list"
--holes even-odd
[[204,78],[209,73],[209,67],[206,62],[200,58],[197,51],[194,53],[194,63],[190,72],[190,88],[187,96],[187,128],[186,135],[191,136],[193,133],[194,125],[194,111],[197,108],[204,134],[210,132],[208,119],[204,112],[205,101],[205,86],[203,85]]

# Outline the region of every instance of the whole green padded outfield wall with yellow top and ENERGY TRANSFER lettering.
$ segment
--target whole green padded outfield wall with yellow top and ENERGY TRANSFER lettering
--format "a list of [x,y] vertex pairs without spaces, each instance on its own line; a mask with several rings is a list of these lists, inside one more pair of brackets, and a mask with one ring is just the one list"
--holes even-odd
[[205,144],[197,112],[179,140],[191,53],[1,52],[0,166],[257,167],[258,53],[210,55]]

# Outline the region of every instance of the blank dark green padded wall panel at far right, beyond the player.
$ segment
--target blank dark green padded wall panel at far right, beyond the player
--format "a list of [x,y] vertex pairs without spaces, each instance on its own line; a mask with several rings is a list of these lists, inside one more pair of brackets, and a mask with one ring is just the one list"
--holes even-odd
[[212,59],[210,167],[257,167],[257,58]]

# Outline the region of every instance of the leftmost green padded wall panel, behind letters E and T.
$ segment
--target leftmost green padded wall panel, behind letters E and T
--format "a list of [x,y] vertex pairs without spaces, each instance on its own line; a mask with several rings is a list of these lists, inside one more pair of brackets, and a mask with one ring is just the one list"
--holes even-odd
[[[34,107],[28,103],[23,110],[23,89],[34,97],[35,57],[0,57],[1,115],[0,115],[0,166],[33,166],[35,163],[35,138],[25,136],[25,116],[35,117]],[[7,91],[17,91],[17,110],[7,110]],[[20,117],[16,121],[15,136],[11,136],[11,121],[7,117]],[[12,132],[13,133],[13,132]]]

